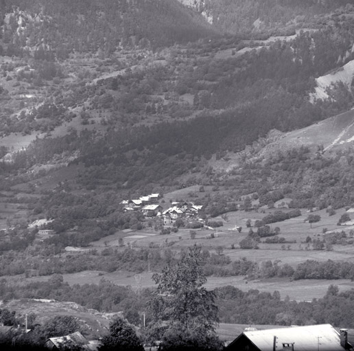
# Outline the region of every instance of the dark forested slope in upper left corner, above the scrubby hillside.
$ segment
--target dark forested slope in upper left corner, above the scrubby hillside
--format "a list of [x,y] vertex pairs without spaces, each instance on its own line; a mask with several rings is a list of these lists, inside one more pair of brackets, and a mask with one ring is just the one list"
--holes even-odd
[[14,53],[40,46],[61,56],[72,50],[110,53],[212,35],[202,16],[175,0],[3,0],[0,6],[3,43]]

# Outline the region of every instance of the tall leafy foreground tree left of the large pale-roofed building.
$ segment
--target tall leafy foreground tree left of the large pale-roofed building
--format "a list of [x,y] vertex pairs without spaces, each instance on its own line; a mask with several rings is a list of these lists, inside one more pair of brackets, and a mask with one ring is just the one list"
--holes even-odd
[[220,350],[215,293],[203,285],[201,248],[189,247],[177,265],[152,277],[158,284],[150,304],[148,335],[161,341],[161,350]]

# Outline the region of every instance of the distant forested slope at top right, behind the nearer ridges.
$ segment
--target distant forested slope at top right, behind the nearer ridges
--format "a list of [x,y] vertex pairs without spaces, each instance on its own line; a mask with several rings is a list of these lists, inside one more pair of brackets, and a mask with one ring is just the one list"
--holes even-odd
[[349,0],[179,0],[196,9],[222,32],[282,34],[318,23],[318,16],[346,6]]

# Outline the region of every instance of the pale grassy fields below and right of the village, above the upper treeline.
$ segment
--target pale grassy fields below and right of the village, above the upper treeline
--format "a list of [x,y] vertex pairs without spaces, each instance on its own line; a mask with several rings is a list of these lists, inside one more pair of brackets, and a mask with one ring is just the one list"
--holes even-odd
[[[340,216],[345,213],[344,209],[337,210],[337,213],[333,216],[329,216],[325,210],[319,210],[314,212],[316,215],[320,215],[321,220],[318,223],[313,223],[312,226],[309,223],[305,223],[305,219],[309,215],[306,210],[302,210],[303,215],[300,217],[288,219],[277,223],[270,224],[271,228],[279,227],[281,232],[280,237],[284,237],[289,243],[283,244],[270,244],[259,243],[259,250],[241,250],[239,249],[239,242],[247,237],[248,228],[246,228],[247,219],[251,219],[252,224],[257,219],[261,219],[269,213],[274,213],[276,209],[266,210],[264,213],[250,211],[237,211],[228,213],[228,221],[225,222],[221,218],[216,217],[216,221],[223,221],[224,226],[215,230],[202,228],[196,230],[196,239],[191,239],[190,230],[180,228],[178,232],[171,234],[160,235],[154,230],[139,230],[130,231],[129,235],[126,232],[117,232],[113,236],[105,237],[100,241],[93,242],[93,247],[105,247],[118,245],[119,237],[123,238],[125,245],[134,243],[134,247],[147,247],[151,244],[165,246],[167,243],[174,243],[171,247],[174,250],[180,250],[182,247],[188,247],[193,244],[202,245],[205,249],[215,250],[217,246],[224,247],[224,254],[231,257],[232,260],[237,260],[242,257],[250,258],[252,260],[261,262],[279,259],[282,264],[288,263],[290,265],[298,265],[307,259],[316,261],[327,261],[331,259],[333,261],[350,261],[354,262],[354,246],[353,245],[333,245],[333,250],[312,250],[311,244],[307,245],[305,240],[310,237],[312,240],[321,239],[322,230],[327,228],[328,231],[345,230],[347,234],[353,229],[353,226],[338,226],[338,220]],[[285,210],[283,210],[285,211]],[[235,226],[241,226],[241,233],[237,230],[232,230]],[[312,228],[311,228],[312,227]],[[256,231],[257,228],[252,228]],[[210,234],[214,233],[215,238],[208,239]],[[265,241],[266,238],[262,238],[261,241]],[[296,243],[294,243],[296,241]],[[292,242],[292,243],[290,243]],[[231,249],[231,245],[234,245],[235,249]]]

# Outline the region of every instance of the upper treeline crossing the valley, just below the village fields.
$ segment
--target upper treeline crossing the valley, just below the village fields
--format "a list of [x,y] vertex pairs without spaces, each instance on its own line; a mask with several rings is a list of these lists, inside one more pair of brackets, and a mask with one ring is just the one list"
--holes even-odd
[[[252,241],[258,245],[259,236],[248,236],[244,241]],[[268,235],[266,235],[268,237]],[[285,240],[276,241],[277,243],[286,243]],[[266,241],[267,243],[268,241]],[[271,242],[271,241],[269,241]],[[314,241],[314,250],[322,250],[325,244],[322,243],[322,249],[316,249],[321,242]],[[151,247],[134,249],[125,247],[106,247],[102,252],[89,250],[84,253],[63,253],[63,245],[48,245],[46,240],[45,247],[32,256],[23,259],[22,254],[17,256],[14,252],[6,252],[0,262],[0,276],[14,276],[25,274],[26,276],[50,276],[51,274],[73,274],[80,271],[113,271],[126,270],[134,273],[142,273],[147,269],[160,271],[164,265],[178,262],[180,254],[170,250],[169,246],[174,241],[167,241],[163,247]],[[121,245],[125,245],[124,239]],[[241,248],[246,242],[240,242]],[[30,249],[27,249],[27,251]],[[23,251],[26,254],[27,251]],[[248,279],[288,277],[294,280],[300,279],[350,279],[354,280],[354,263],[341,261],[318,262],[307,260],[304,263],[292,267],[287,263],[279,265],[277,261],[255,261],[241,258],[231,261],[231,258],[222,254],[224,247],[216,247],[215,253],[209,250],[202,250],[202,267],[206,276],[246,276]],[[181,252],[182,254],[182,252]],[[31,269],[29,269],[31,267]],[[34,273],[35,272],[35,273]]]

